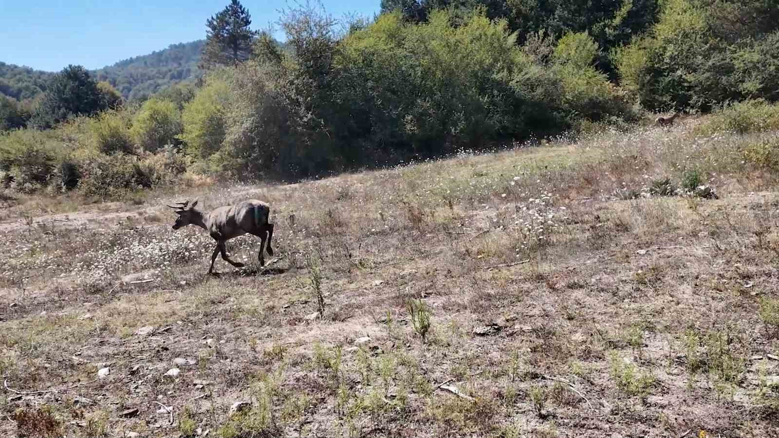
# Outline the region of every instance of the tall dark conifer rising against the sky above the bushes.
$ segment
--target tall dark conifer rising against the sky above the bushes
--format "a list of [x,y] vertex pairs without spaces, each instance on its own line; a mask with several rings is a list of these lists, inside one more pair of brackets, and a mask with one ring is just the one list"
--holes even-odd
[[237,65],[252,54],[252,16],[238,0],[231,0],[217,15],[206,20],[206,44],[200,62],[203,68],[217,65]]

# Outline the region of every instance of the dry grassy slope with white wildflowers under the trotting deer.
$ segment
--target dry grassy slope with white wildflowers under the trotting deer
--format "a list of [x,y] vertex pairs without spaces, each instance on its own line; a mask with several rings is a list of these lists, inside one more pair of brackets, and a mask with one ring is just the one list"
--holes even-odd
[[[9,207],[27,219],[0,224],[11,254],[0,261],[0,374],[18,390],[111,374],[20,401],[0,394],[0,431],[44,404],[82,436],[770,436],[779,340],[766,321],[779,309],[760,302],[779,298],[777,185],[742,164],[738,146],[753,137],[696,138],[695,123],[189,189],[176,199],[273,205],[284,258],[263,271],[218,260],[219,278],[203,275],[206,233],[171,231],[160,207],[170,196],[70,221],[33,217],[40,201]],[[690,168],[719,200],[616,196]],[[228,251],[252,261],[257,246],[242,237]],[[310,319],[312,249],[323,320]],[[131,273],[154,281],[120,280]],[[432,309],[425,342],[410,298]],[[169,328],[136,334],[143,326]],[[164,376],[177,357],[194,364]],[[473,400],[438,388],[447,381]],[[241,400],[253,410],[228,420]],[[128,408],[138,415],[118,415]]]

